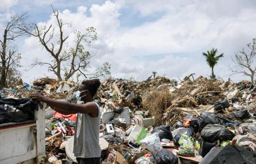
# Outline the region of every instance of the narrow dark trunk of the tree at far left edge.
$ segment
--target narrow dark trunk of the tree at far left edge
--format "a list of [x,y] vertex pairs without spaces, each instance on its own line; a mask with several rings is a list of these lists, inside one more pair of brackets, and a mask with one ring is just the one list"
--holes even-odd
[[1,79],[0,79],[0,89],[4,88],[6,85],[6,40],[7,40],[7,30],[4,30],[4,42],[3,42],[3,53],[1,54],[2,59],[2,70],[1,70]]

